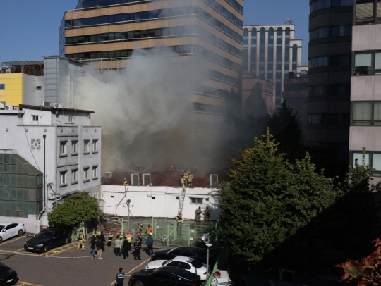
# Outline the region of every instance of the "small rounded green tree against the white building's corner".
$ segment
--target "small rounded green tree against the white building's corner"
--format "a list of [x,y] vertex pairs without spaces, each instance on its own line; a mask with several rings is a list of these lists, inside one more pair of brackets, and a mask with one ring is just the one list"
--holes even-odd
[[48,213],[49,221],[63,225],[85,223],[99,216],[97,200],[90,197],[87,192],[80,192],[68,197],[63,204]]

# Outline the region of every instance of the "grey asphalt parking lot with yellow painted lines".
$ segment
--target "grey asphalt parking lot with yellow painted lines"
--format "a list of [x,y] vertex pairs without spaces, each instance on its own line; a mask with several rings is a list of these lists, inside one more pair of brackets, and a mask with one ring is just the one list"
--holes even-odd
[[114,286],[119,268],[124,268],[124,285],[128,285],[130,275],[144,269],[150,261],[144,245],[141,251],[142,260],[134,260],[131,252],[126,259],[123,256],[116,257],[113,249],[108,249],[107,246],[102,254],[103,259],[99,260],[91,258],[88,242],[85,244],[85,251],[77,251],[76,242],[71,242],[38,254],[24,251],[24,242],[29,239],[30,237],[23,235],[0,244],[0,261],[16,270],[20,278],[16,284],[18,286]]

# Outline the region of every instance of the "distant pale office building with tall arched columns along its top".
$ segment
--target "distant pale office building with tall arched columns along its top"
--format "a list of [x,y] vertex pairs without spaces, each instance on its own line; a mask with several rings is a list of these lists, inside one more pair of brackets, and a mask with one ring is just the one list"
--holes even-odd
[[295,25],[243,26],[243,73],[274,83],[274,106],[282,104],[284,79],[301,65],[301,39],[294,39]]

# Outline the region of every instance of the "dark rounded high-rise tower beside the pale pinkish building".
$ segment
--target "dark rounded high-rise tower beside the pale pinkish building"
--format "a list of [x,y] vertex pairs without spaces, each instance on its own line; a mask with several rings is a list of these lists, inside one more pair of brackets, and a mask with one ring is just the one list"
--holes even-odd
[[306,141],[349,146],[353,0],[310,0]]

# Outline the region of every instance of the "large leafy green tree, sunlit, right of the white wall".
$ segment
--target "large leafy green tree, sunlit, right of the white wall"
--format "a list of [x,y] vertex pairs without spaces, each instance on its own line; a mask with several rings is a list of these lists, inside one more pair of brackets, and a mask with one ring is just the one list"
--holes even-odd
[[253,268],[335,199],[333,182],[315,172],[310,156],[288,163],[267,128],[264,141],[231,158],[222,186],[222,235],[244,267]]

